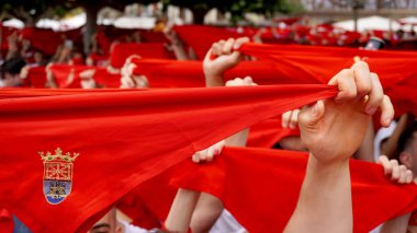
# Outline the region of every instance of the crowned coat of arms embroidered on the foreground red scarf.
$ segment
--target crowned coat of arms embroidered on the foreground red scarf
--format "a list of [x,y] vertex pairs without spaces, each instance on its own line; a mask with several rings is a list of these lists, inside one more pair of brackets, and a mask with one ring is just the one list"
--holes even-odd
[[72,167],[74,161],[80,155],[67,152],[63,154],[63,150],[57,148],[55,154],[49,151],[38,152],[44,161],[44,195],[46,201],[52,205],[63,202],[71,193]]

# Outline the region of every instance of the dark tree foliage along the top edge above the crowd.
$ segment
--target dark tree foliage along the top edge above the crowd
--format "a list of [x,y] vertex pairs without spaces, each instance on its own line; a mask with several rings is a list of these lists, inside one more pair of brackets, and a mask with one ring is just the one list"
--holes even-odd
[[[155,3],[158,0],[1,0],[0,9],[5,16],[14,16],[26,23],[35,23],[41,18],[60,18],[77,7],[88,12],[98,12],[103,7],[123,10],[132,3]],[[230,12],[241,19],[246,12],[264,13],[272,16],[275,12],[293,13],[302,8],[291,0],[162,0],[165,5],[173,4],[189,8],[196,23],[202,23],[207,11],[216,8],[221,12]],[[1,18],[0,18],[1,19]]]

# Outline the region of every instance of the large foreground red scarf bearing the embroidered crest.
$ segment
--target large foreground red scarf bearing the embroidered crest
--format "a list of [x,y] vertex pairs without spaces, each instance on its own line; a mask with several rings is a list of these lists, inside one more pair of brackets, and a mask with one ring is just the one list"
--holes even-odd
[[[70,93],[1,93],[0,139],[8,147],[0,148],[0,205],[35,232],[86,231],[95,213],[194,152],[290,108],[333,97],[336,90],[283,85]],[[37,153],[58,147],[80,156],[74,162],[71,194],[49,205]],[[15,184],[22,185],[18,189]]]

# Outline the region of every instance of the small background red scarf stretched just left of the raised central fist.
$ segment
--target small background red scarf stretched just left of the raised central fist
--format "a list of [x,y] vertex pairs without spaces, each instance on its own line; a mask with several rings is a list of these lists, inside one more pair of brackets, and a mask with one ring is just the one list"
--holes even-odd
[[132,55],[138,55],[144,58],[168,58],[161,43],[136,44],[136,43],[121,43],[113,47],[110,55],[110,65],[113,68],[122,68],[126,58]]

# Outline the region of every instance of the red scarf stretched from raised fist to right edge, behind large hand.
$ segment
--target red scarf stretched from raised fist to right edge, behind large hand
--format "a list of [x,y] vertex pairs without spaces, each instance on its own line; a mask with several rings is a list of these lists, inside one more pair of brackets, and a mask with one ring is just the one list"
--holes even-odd
[[[288,69],[292,81],[311,83],[318,80],[327,83],[329,78],[340,70],[353,65],[353,55],[367,57],[372,72],[379,74],[385,93],[392,98],[397,116],[412,110],[417,114],[417,98],[414,86],[417,85],[417,69],[414,59],[417,53],[412,51],[367,51],[347,48],[323,49],[311,47],[309,53],[300,49],[284,50],[284,46],[246,44],[241,51],[268,62],[275,62],[279,69]],[[290,46],[288,46],[290,47]],[[296,48],[292,46],[293,48]],[[407,58],[407,59],[405,59]]]

